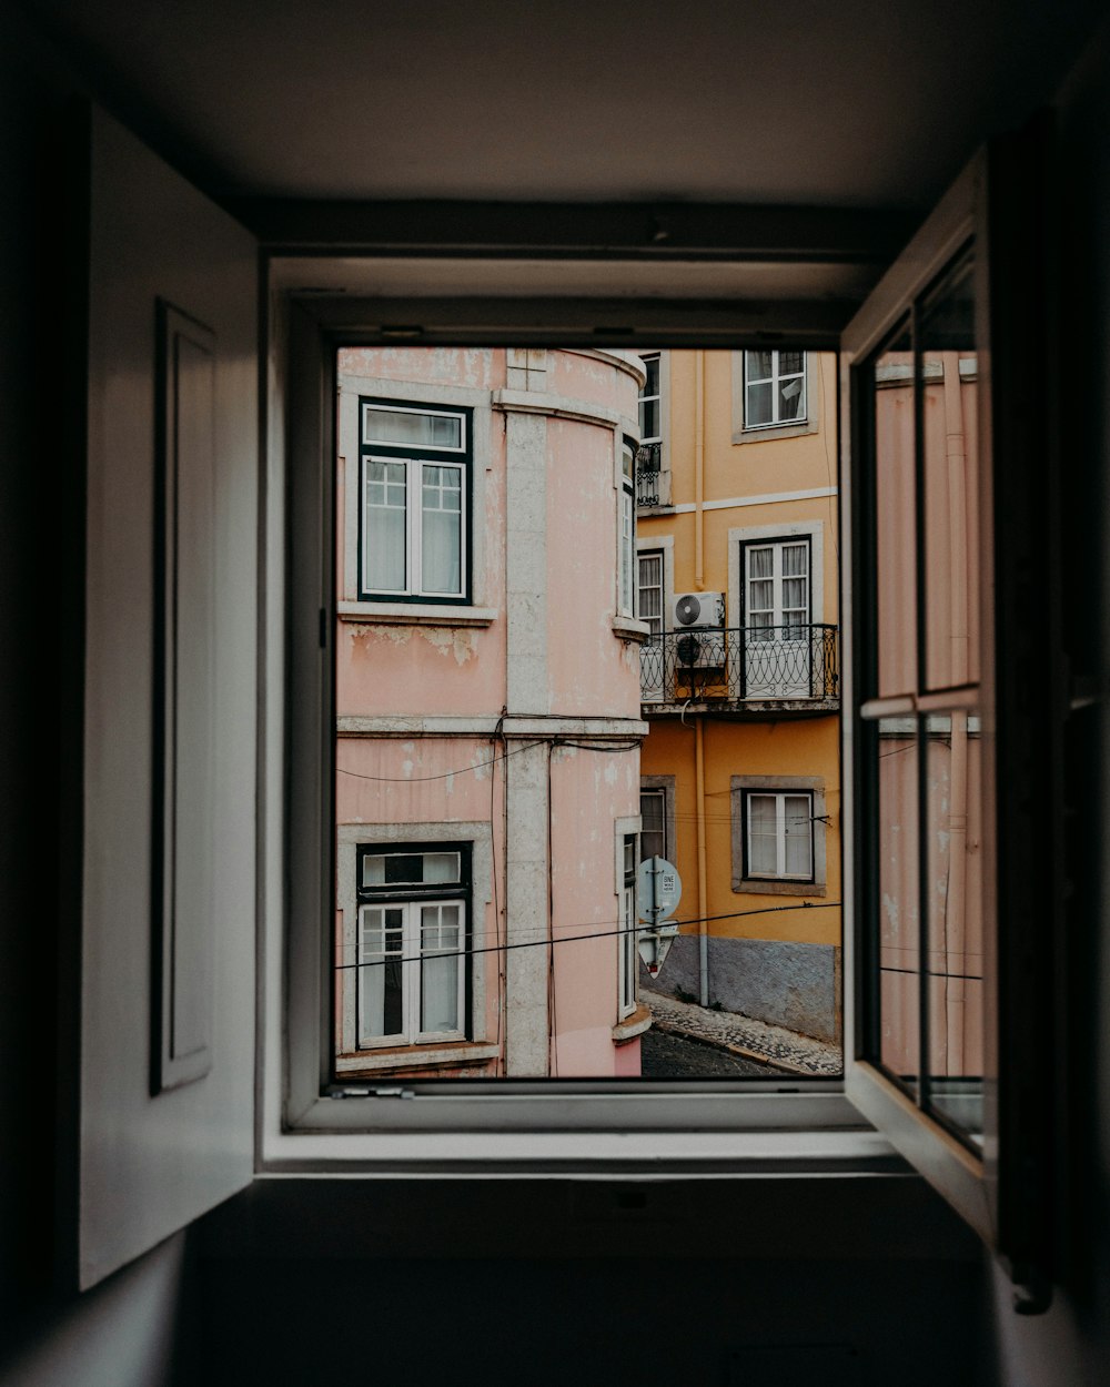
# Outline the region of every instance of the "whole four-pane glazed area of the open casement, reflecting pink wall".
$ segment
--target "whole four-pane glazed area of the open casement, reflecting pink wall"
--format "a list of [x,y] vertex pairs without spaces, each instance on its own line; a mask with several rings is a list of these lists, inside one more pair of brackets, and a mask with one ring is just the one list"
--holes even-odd
[[984,1123],[987,806],[978,669],[978,373],[971,252],[860,369],[874,517],[859,732],[867,1058],[964,1144]]

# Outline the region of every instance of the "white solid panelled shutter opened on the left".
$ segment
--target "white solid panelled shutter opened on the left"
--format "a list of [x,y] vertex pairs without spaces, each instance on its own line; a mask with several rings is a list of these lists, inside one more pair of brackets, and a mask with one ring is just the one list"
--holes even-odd
[[254,1173],[258,251],[101,112],[75,135],[87,571],[61,1223],[87,1287]]

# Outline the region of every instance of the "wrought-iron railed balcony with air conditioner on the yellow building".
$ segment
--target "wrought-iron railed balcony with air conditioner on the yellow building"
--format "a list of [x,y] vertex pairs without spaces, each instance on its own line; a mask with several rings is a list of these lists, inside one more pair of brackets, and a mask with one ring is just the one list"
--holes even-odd
[[835,626],[663,631],[640,649],[645,714],[713,709],[814,716],[839,707]]

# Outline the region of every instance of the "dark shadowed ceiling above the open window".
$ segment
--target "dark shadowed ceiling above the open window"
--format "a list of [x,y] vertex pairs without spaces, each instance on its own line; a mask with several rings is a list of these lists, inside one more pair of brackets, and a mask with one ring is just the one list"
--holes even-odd
[[924,208],[1092,0],[24,0],[218,194]]

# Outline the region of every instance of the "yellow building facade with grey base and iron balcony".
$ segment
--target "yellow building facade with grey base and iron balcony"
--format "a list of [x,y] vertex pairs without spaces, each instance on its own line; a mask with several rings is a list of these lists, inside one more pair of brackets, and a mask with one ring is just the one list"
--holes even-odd
[[839,1039],[835,356],[644,359],[641,856],[683,925],[642,981]]

